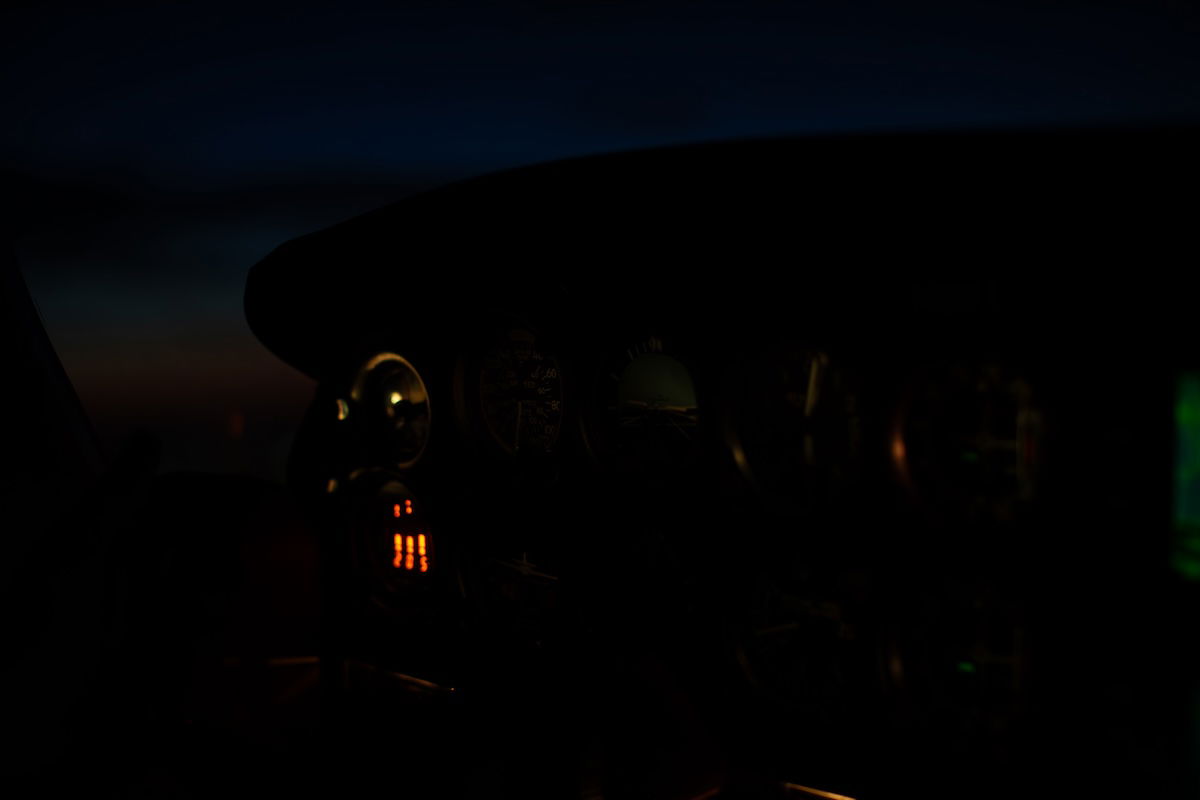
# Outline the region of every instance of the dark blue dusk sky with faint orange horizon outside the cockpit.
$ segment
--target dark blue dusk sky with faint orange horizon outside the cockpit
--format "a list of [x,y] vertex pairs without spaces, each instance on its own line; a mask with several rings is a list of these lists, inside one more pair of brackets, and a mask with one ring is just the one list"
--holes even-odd
[[0,13],[16,247],[102,440],[146,427],[167,468],[269,479],[312,385],[253,339],[241,288],[293,236],[566,156],[1200,118],[1200,16],[1182,0]]

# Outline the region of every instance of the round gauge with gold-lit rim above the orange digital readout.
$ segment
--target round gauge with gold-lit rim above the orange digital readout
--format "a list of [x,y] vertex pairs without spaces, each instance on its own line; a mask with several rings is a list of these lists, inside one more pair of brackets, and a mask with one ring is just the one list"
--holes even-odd
[[370,446],[389,463],[416,463],[430,439],[430,395],[406,359],[380,353],[359,371],[350,396],[362,410]]

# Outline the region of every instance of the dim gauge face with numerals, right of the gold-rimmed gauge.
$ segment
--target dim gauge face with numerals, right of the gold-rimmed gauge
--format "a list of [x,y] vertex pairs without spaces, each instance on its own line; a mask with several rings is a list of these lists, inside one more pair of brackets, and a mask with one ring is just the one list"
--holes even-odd
[[492,439],[509,453],[548,453],[563,425],[563,375],[529,331],[510,331],[484,356],[479,399]]

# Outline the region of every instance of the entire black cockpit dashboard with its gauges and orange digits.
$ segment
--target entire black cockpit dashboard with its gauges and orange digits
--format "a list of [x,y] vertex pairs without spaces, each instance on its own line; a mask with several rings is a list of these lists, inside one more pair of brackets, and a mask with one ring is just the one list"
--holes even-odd
[[1186,794],[1194,143],[620,154],[277,248],[346,780]]

